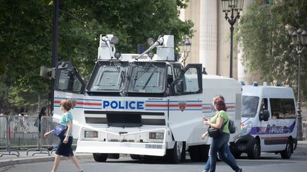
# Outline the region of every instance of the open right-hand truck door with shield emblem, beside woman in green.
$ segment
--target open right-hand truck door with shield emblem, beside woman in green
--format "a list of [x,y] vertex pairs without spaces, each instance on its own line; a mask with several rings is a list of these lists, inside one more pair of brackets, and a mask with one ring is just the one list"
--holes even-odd
[[[203,116],[203,78],[201,64],[188,64],[171,84],[168,122],[176,141],[187,141]],[[198,136],[199,137],[199,136]]]

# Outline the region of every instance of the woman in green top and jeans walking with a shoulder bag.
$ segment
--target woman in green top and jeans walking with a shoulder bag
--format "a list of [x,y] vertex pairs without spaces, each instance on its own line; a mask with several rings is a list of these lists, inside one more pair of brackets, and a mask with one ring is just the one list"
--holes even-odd
[[[226,164],[228,164],[232,170],[242,172],[243,169],[237,166],[234,156],[232,156],[230,149],[228,147],[228,142],[230,139],[230,131],[228,129],[228,122],[230,117],[226,113],[226,105],[224,98],[222,96],[215,96],[213,98],[212,104],[215,107],[216,113],[211,118],[211,120],[205,119],[204,124],[211,127],[220,129],[223,124],[222,134],[219,137],[212,138],[212,144],[210,145],[209,159],[205,165],[205,172],[214,172],[217,160],[217,152],[219,158],[222,159]],[[208,135],[208,132],[205,132],[202,135],[202,138]]]

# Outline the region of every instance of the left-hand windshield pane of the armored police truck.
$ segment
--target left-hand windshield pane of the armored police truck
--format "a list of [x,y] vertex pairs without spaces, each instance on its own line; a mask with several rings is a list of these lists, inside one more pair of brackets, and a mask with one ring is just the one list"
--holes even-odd
[[119,92],[122,91],[128,62],[99,62],[93,74],[89,91]]

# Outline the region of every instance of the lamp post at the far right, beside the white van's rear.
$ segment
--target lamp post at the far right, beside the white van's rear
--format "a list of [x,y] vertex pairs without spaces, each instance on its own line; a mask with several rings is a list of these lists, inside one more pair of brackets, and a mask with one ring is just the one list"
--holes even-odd
[[299,28],[294,30],[291,34],[291,45],[295,47],[296,52],[298,53],[298,140],[303,140],[303,131],[302,131],[302,117],[301,117],[301,52],[304,47],[307,46],[307,31]]

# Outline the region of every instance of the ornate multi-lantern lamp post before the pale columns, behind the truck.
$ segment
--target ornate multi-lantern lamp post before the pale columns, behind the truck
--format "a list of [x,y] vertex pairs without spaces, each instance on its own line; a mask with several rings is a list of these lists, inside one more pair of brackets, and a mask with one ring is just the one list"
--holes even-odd
[[[244,0],[221,0],[222,12],[225,19],[230,23],[230,78],[232,78],[232,59],[233,59],[233,30],[236,21],[239,19],[239,12],[243,9]],[[230,17],[228,16],[230,13]]]

